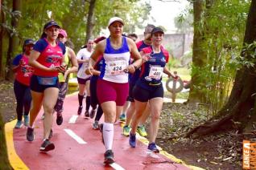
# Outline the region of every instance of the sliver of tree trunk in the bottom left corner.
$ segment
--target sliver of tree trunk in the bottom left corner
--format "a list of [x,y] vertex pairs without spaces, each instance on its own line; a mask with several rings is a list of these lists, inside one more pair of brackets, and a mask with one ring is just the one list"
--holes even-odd
[[5,130],[4,123],[2,121],[2,115],[0,113],[0,169],[13,169],[10,166],[7,152],[6,152],[6,138],[5,138]]

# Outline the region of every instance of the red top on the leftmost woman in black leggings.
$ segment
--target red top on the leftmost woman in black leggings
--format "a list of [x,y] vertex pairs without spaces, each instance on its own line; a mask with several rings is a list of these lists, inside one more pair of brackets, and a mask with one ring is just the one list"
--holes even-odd
[[23,64],[16,72],[16,80],[19,83],[23,83],[26,86],[29,86],[31,83],[31,75],[33,75],[34,68],[28,65],[28,58],[26,55],[23,55],[23,57],[20,59],[20,62]]

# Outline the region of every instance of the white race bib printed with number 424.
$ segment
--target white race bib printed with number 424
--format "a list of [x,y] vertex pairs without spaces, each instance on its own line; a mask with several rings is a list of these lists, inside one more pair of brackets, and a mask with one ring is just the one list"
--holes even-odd
[[127,67],[126,61],[111,61],[106,64],[106,75],[122,75],[125,74]]

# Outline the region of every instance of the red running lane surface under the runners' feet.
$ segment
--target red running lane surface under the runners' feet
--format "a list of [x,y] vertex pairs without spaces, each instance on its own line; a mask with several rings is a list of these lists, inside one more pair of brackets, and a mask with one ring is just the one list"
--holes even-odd
[[[56,114],[53,122],[53,151],[39,152],[43,142],[43,120],[40,116],[35,120],[35,140],[26,140],[27,128],[14,129],[14,148],[30,169],[114,169],[103,164],[105,147],[101,143],[101,133],[92,128],[93,119],[85,119],[85,107],[76,123],[68,123],[72,115],[76,115],[78,107],[77,95],[68,96],[64,101],[64,122],[56,125]],[[78,144],[64,131],[70,129],[87,144]],[[161,154],[148,153],[147,145],[138,141],[136,148],[130,148],[129,138],[122,136],[122,127],[114,126],[114,160],[124,169],[189,169],[177,164]]]

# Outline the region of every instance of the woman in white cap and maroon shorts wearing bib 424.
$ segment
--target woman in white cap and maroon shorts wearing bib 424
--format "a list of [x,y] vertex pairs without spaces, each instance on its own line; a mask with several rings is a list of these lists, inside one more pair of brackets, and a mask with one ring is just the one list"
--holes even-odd
[[[94,63],[103,55],[103,67],[97,81],[97,97],[105,115],[102,136],[105,144],[105,164],[114,162],[112,145],[114,140],[114,121],[122,111],[128,96],[128,71],[134,72],[142,63],[136,44],[130,38],[122,36],[124,22],[122,18],[109,19],[109,38],[99,42],[89,60],[88,74],[92,74]],[[129,65],[130,55],[134,63]]]

